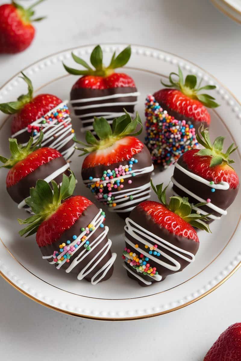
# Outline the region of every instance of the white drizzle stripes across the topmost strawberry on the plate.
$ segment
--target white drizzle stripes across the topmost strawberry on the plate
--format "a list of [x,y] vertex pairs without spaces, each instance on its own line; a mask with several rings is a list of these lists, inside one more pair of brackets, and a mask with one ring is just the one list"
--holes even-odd
[[[118,94],[111,94],[111,95],[105,95],[105,96],[98,96],[98,97],[92,97],[92,98],[82,98],[82,99],[75,99],[70,100],[70,103],[72,104],[74,110],[87,110],[87,109],[94,109],[94,108],[106,108],[108,106],[123,106],[125,108],[126,105],[136,105],[138,101],[128,101],[128,102],[110,102],[108,103],[108,99],[115,99],[115,98],[124,98],[124,97],[137,97],[139,96],[139,92],[130,92],[130,93],[118,93]],[[87,105],[81,105],[76,106],[75,104],[78,103],[89,103],[94,101],[100,101],[100,100],[107,100],[107,103],[99,103],[99,104],[87,104]],[[81,128],[81,132],[85,132],[86,130],[93,130],[93,126],[84,126],[85,123],[92,123],[94,122],[94,118],[90,119],[82,119],[87,117],[104,117],[106,119],[110,119],[108,121],[109,124],[112,124],[113,119],[116,117],[120,117],[124,115],[124,112],[91,112],[91,113],[84,113],[81,115],[76,116],[81,119],[83,127]],[[133,116],[134,114],[130,114],[130,116]]]

